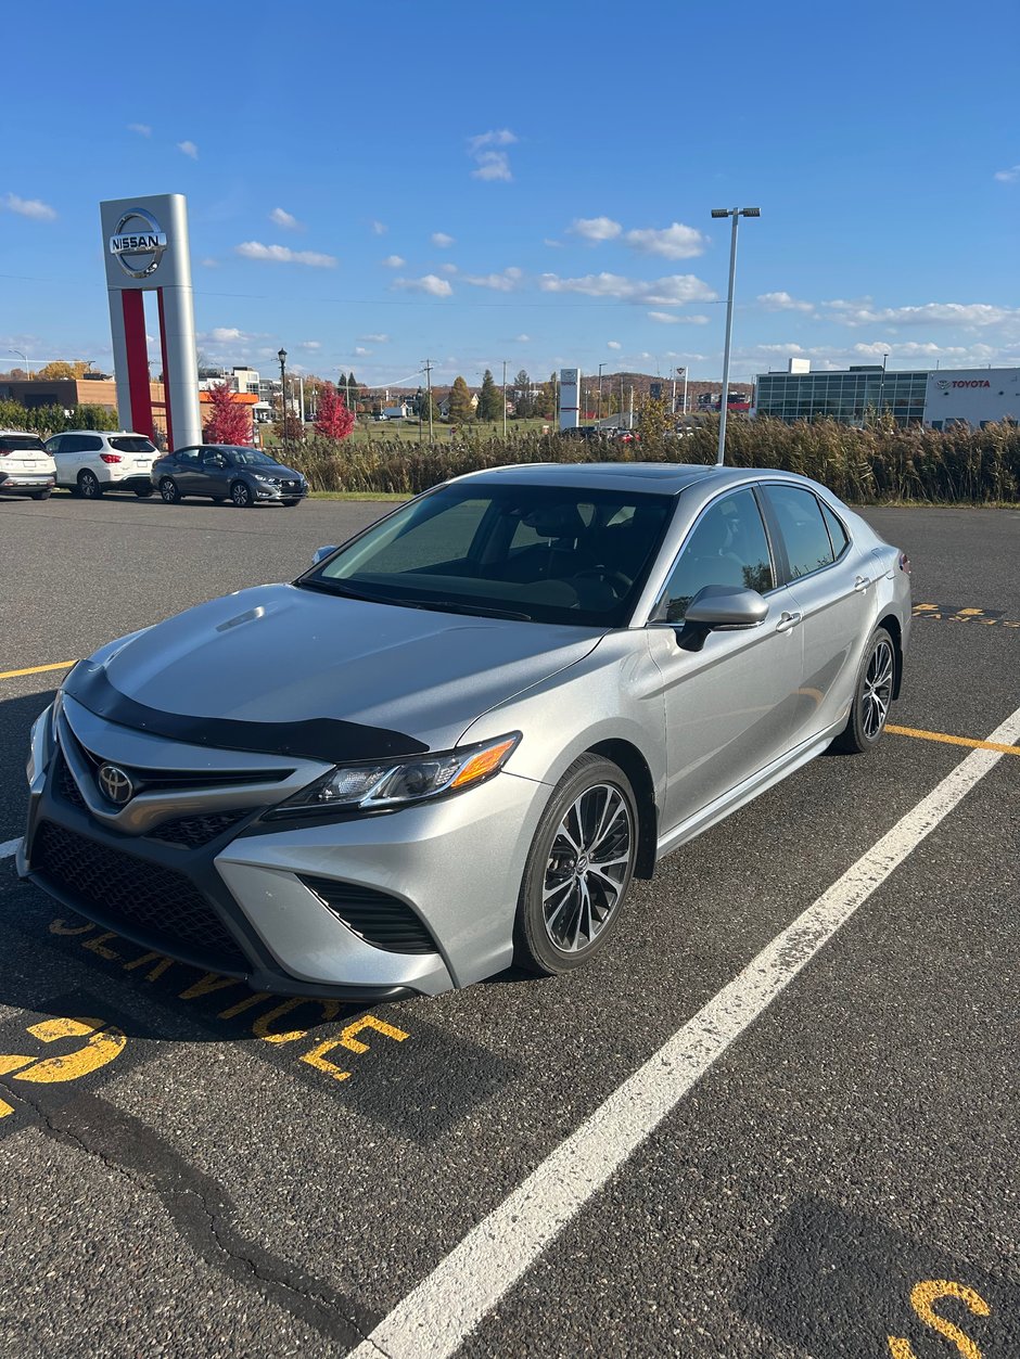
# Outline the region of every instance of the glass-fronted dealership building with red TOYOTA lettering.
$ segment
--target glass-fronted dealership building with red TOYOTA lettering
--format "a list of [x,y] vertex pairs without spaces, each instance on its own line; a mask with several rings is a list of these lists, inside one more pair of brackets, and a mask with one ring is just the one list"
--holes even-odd
[[862,425],[888,412],[896,424],[947,429],[983,428],[1020,421],[1020,368],[885,370],[861,364],[845,371],[812,372],[805,359],[790,359],[782,372],[762,372],[755,385],[755,414],[794,420],[839,420]]

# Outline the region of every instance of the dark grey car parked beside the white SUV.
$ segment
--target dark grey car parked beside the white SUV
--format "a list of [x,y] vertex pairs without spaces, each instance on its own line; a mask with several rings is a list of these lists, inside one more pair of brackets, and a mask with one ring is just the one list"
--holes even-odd
[[299,472],[284,467],[258,448],[200,443],[166,453],[152,463],[152,485],[167,504],[185,496],[231,500],[239,510],[257,504],[295,506],[309,493]]

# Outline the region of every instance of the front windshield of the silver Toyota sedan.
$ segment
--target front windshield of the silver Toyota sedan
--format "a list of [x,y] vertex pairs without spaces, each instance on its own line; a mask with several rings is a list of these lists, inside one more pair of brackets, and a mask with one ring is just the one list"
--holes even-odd
[[622,626],[673,504],[581,487],[441,487],[298,584],[450,613]]

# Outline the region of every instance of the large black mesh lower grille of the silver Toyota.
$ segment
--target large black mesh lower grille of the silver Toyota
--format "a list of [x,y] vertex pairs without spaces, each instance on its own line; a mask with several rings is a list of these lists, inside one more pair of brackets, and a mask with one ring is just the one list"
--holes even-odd
[[95,906],[113,928],[120,921],[169,953],[184,943],[218,968],[250,969],[203,894],[181,872],[110,849],[52,821],[35,832],[31,863],[54,886]]

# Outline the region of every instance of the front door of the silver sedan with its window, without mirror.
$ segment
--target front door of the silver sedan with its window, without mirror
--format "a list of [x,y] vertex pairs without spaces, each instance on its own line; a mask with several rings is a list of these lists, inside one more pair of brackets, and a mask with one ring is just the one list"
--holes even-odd
[[[664,834],[792,745],[804,658],[797,605],[775,582],[753,492],[719,496],[702,512],[669,576],[665,617],[675,626],[649,628],[665,689]],[[700,651],[684,651],[677,643],[684,614],[704,586],[758,590],[768,603],[764,622],[710,632]]]

